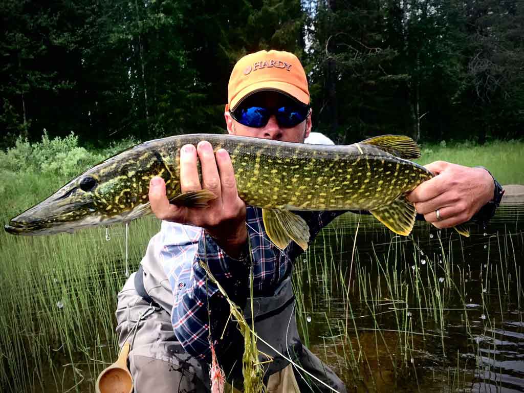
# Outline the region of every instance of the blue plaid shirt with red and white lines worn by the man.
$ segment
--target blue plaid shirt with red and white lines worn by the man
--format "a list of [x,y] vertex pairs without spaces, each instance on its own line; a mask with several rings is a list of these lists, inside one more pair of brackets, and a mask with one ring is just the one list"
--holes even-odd
[[[342,212],[297,214],[308,223],[310,239],[313,239],[322,227]],[[292,261],[302,253],[302,249],[294,242],[284,250],[275,247],[266,235],[259,208],[247,206],[246,224],[253,260],[254,296],[265,296],[272,293],[289,276]],[[238,260],[226,255],[200,227],[162,222],[160,233],[162,236],[158,239],[162,244],[159,258],[173,291],[171,322],[174,333],[189,354],[200,359],[209,359],[208,301],[214,296],[222,295],[217,293],[218,288],[210,280],[206,280],[206,273],[200,262],[207,260],[213,276],[221,285],[232,288],[235,281],[247,282],[246,259]],[[242,299],[239,303],[242,304]],[[221,308],[227,303],[213,304],[215,307],[218,304]],[[210,313],[229,315],[230,311],[224,307],[210,309]]]

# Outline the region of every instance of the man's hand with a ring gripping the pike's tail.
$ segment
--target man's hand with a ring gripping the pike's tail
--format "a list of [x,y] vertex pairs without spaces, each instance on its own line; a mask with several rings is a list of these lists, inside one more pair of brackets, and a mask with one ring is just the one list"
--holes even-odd
[[[469,221],[493,199],[495,184],[482,168],[469,168],[445,161],[425,166],[436,176],[423,182],[409,195],[418,213],[437,228],[449,228]],[[441,220],[436,217],[439,209]]]

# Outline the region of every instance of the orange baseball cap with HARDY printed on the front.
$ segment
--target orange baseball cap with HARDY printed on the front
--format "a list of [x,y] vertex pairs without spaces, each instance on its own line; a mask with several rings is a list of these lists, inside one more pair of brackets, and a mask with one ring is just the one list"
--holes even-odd
[[234,110],[246,97],[259,91],[278,91],[309,104],[308,80],[293,53],[261,50],[237,61],[227,85],[228,108]]

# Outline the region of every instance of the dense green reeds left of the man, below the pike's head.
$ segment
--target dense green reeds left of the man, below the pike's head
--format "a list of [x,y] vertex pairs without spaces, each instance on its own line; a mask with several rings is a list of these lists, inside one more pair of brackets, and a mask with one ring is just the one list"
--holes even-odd
[[[133,268],[158,227],[156,220],[131,225]],[[110,234],[111,241],[103,228],[39,237],[0,234],[5,391],[86,391],[114,361],[116,294],[126,280],[124,228],[111,227]],[[56,388],[44,386],[50,378]]]

